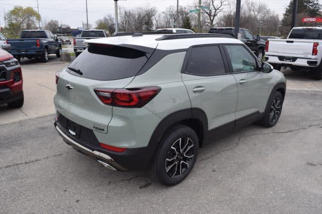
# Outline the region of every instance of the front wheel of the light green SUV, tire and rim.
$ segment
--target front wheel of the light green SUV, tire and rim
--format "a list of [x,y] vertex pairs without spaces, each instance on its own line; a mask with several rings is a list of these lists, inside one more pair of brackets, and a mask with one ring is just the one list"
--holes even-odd
[[275,91],[267,102],[264,117],[260,121],[262,126],[269,128],[278,122],[282,113],[283,101],[282,93]]

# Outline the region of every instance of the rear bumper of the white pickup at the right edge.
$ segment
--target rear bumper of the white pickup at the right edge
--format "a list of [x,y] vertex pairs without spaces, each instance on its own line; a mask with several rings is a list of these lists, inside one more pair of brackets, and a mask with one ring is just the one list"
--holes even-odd
[[[319,60],[317,57],[289,57],[289,56],[276,56],[266,53],[267,62],[272,64],[281,64],[285,66],[299,66],[299,67],[317,67]],[[291,62],[289,62],[291,61]]]

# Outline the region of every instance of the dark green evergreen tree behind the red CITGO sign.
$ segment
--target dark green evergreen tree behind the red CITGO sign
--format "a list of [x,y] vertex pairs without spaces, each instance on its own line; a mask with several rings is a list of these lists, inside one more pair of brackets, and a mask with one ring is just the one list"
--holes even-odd
[[[291,0],[287,6],[285,13],[283,14],[282,25],[285,27],[283,30],[284,34],[287,34],[292,22],[292,12],[293,12],[294,1]],[[303,17],[317,17],[321,16],[322,5],[319,3],[319,0],[298,0],[297,5],[297,26],[309,26],[314,24],[301,23]]]

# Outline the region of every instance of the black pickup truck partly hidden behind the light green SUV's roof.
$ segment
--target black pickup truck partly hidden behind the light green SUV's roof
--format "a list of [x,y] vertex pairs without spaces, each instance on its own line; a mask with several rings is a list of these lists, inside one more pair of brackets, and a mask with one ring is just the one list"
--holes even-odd
[[[209,33],[228,34],[234,37],[234,28],[212,28],[209,30]],[[248,29],[239,28],[239,34],[241,35],[241,41],[256,54],[260,61],[262,61],[265,54],[265,41],[261,40],[259,35],[255,37]]]

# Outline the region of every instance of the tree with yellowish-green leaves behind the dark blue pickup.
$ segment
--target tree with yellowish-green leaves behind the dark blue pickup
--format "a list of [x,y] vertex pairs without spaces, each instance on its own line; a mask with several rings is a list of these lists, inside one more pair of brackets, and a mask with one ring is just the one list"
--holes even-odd
[[10,38],[19,37],[22,30],[35,29],[41,17],[32,8],[15,6],[14,9],[5,14],[8,27],[4,30]]

